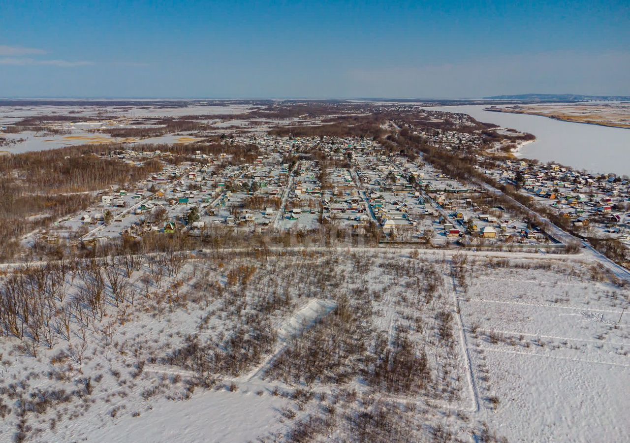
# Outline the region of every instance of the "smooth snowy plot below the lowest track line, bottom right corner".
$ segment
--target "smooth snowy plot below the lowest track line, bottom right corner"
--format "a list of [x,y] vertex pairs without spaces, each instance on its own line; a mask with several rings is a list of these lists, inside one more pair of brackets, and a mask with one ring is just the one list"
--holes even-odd
[[473,353],[473,367],[487,380],[479,383],[480,416],[509,441],[630,438],[627,366],[484,350]]

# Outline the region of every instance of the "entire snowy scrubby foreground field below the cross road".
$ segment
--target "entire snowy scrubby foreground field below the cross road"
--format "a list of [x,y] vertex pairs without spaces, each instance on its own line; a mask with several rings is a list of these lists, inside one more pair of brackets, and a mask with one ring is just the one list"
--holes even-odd
[[64,310],[1,338],[3,441],[629,439],[628,290],[588,256],[135,257],[11,280]]

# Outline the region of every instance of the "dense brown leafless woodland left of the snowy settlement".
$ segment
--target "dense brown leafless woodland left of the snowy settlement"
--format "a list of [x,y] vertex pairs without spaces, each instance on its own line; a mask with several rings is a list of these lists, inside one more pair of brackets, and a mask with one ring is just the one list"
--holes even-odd
[[157,159],[134,166],[72,149],[0,157],[0,259],[18,252],[20,236],[86,209],[94,200],[89,192],[135,183],[161,169]]

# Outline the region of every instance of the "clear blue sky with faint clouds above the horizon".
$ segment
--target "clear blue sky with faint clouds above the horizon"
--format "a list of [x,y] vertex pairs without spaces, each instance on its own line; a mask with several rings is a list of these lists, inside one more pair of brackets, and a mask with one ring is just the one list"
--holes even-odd
[[5,1],[0,96],[630,95],[629,1]]

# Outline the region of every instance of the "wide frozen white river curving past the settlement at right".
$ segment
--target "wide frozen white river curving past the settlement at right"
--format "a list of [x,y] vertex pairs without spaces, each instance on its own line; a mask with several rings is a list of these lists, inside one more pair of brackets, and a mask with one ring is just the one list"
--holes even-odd
[[536,135],[536,142],[519,155],[544,163],[557,161],[593,173],[630,175],[630,129],[562,122],[537,115],[484,111],[488,105],[440,106],[435,111],[465,113],[479,122],[493,123]]

